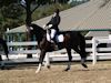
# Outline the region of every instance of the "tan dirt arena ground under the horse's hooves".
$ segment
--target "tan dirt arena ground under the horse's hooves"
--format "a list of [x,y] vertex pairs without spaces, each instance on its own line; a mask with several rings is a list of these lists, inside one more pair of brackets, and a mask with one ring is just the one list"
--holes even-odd
[[88,63],[88,70],[80,63],[73,63],[70,71],[67,65],[51,64],[36,74],[37,66],[17,65],[10,70],[0,70],[0,83],[111,83],[111,61]]

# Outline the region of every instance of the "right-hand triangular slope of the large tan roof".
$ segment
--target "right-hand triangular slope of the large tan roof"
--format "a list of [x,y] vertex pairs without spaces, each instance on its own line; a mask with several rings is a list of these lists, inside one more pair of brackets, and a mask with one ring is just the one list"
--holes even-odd
[[82,21],[78,29],[111,30],[111,0],[109,0],[105,6],[99,7],[97,10],[98,11],[88,17],[87,20]]

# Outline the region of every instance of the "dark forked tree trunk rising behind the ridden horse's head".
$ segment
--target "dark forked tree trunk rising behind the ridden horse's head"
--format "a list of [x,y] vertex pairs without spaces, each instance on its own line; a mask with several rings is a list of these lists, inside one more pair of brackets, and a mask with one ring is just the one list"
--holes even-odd
[[[31,41],[30,35],[30,24],[32,22],[32,13],[37,8],[48,3],[47,0],[20,0],[20,4],[26,9],[27,18],[26,18],[26,27],[28,29],[28,41]],[[29,50],[31,46],[28,48]],[[32,58],[32,54],[28,54],[28,58]]]

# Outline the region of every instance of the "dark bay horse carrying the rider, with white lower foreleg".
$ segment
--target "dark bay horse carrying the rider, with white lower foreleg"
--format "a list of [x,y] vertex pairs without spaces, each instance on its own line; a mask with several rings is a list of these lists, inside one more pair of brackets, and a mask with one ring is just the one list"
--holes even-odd
[[[65,71],[70,70],[71,61],[72,61],[72,55],[71,55],[71,49],[73,49],[77,53],[80,54],[81,56],[81,64],[84,68],[88,68],[85,62],[87,59],[87,52],[85,52],[85,40],[84,37],[80,34],[78,31],[62,31],[60,32],[63,34],[64,40],[61,43],[58,43],[59,50],[60,49],[65,49],[68,56],[69,56],[69,62]],[[43,30],[41,27],[37,24],[31,24],[30,25],[30,34],[36,35],[38,45],[40,49],[40,58],[39,58],[39,66],[36,73],[38,73],[41,70],[43,59],[46,56],[47,52],[52,52],[54,51],[53,45],[51,42],[47,40],[47,30]]]

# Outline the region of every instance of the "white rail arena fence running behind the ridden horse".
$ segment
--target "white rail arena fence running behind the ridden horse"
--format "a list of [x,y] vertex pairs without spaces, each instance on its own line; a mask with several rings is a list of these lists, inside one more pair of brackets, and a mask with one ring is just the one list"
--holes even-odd
[[[111,59],[111,48],[109,46],[111,44],[111,40],[105,38],[92,38],[92,40],[85,40],[87,45],[90,44],[91,46],[87,48],[87,52],[89,52],[89,56],[87,60],[92,60],[92,64],[95,64],[98,60],[108,60]],[[109,44],[107,48],[97,48],[100,43],[107,43]],[[22,59],[23,61],[18,61],[17,59],[13,60],[13,62],[38,62],[39,61],[39,49],[36,49],[36,45],[38,43],[36,41],[32,42],[8,42],[9,46],[9,59],[13,58],[23,58],[23,55],[27,56],[27,54],[31,53],[32,59]],[[28,50],[28,45],[34,45],[32,50]],[[13,49],[14,48],[14,49]],[[18,56],[19,55],[19,56]],[[72,60],[80,60],[80,55],[72,51]],[[68,61],[68,54],[65,52],[65,49],[54,51],[54,52],[48,52],[44,59],[46,64],[49,64],[50,61]]]

